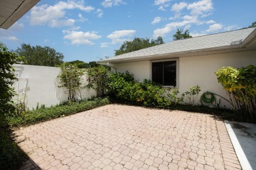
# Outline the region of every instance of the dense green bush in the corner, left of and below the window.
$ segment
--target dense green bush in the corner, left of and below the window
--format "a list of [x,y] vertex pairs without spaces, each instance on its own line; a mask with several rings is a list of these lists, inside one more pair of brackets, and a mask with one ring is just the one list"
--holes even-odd
[[138,82],[128,71],[111,74],[107,86],[110,89],[111,97],[116,97],[125,103],[167,105],[167,97],[164,96],[165,90],[162,89],[162,86],[146,79],[143,82]]

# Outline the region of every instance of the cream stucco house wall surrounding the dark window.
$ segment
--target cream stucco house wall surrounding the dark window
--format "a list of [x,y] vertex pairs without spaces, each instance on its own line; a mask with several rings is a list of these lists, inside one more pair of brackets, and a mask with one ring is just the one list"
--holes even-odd
[[[196,99],[200,104],[200,96],[204,92],[213,92],[226,98],[226,91],[218,82],[215,71],[221,67],[245,67],[247,65],[256,65],[256,51],[234,52],[226,54],[214,54],[208,56],[193,56],[179,58],[179,92],[183,93],[189,90],[191,86],[200,86],[201,92]],[[121,63],[116,65],[118,72],[128,70],[135,75],[135,79],[140,82],[144,78],[150,79],[150,61],[140,61],[133,63]],[[219,103],[219,97],[215,96]],[[221,107],[230,108],[230,104],[221,99]]]

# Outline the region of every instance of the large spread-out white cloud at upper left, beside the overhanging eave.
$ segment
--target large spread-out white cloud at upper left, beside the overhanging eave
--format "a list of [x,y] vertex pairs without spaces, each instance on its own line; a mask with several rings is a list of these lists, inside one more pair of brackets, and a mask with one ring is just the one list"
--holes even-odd
[[91,6],[85,6],[83,1],[60,1],[53,6],[41,5],[33,7],[30,13],[31,25],[49,25],[50,27],[72,26],[74,19],[65,19],[66,10],[78,9],[85,12],[94,10]]

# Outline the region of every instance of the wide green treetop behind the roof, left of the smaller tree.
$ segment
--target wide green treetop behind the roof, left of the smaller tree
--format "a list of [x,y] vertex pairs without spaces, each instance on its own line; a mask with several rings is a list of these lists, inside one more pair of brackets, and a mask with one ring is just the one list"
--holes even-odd
[[123,44],[121,45],[121,47],[119,48],[119,50],[115,50],[115,54],[116,56],[121,55],[121,54],[125,54],[127,52],[133,52],[136,50],[140,50],[143,48],[148,48],[150,46],[156,46],[159,44],[163,44],[163,39],[161,37],[158,37],[158,39],[154,40],[152,39],[150,41],[150,39],[146,38],[136,38],[133,41],[125,41],[123,42]]

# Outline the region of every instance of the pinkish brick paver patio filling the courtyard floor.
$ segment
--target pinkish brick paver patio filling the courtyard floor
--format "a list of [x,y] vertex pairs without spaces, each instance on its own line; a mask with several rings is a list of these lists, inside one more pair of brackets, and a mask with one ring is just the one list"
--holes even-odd
[[209,114],[106,105],[15,133],[22,169],[241,169]]

